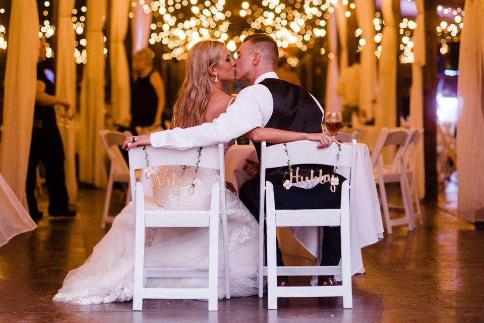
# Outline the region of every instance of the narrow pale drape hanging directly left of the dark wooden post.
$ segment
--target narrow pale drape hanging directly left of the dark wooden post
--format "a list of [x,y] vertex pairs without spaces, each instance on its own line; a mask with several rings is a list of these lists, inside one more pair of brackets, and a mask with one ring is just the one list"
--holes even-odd
[[[412,63],[412,86],[410,90],[410,124],[412,128],[423,129],[423,74],[422,67],[425,66],[425,19],[423,0],[415,0],[417,27],[413,31],[414,47]],[[414,152],[415,181],[417,182],[418,196],[425,196],[425,167],[423,165],[423,137],[418,143]]]

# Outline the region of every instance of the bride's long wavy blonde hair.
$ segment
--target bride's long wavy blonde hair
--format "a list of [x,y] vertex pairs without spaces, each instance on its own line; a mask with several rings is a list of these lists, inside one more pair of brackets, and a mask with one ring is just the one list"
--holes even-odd
[[216,40],[202,40],[188,52],[185,80],[173,106],[171,127],[189,128],[202,124],[212,81],[208,68],[217,66],[224,44]]

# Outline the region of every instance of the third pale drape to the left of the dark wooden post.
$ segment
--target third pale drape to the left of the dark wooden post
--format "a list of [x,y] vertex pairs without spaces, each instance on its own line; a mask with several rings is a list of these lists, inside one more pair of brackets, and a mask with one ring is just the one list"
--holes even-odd
[[374,105],[377,95],[377,57],[375,51],[375,3],[368,0],[355,0],[356,21],[362,30],[361,38],[366,40],[360,55],[359,109],[367,119],[374,117]]

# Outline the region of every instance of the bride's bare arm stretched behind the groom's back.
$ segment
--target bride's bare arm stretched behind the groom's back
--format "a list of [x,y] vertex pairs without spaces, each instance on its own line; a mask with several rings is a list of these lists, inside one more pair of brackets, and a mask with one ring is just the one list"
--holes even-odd
[[329,147],[332,142],[336,142],[339,144],[338,140],[333,139],[331,136],[326,135],[324,132],[307,133],[286,131],[275,128],[255,128],[246,133],[244,136],[255,142],[267,141],[270,143],[283,143],[297,140],[319,141],[319,148]]

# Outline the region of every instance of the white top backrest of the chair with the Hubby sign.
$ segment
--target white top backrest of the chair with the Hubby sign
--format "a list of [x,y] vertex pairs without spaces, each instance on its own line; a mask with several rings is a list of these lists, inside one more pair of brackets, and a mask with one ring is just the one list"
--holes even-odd
[[[336,173],[344,176],[350,181],[349,184],[351,185],[351,175],[355,162],[356,140],[353,139],[350,145],[332,143],[326,149],[318,149],[317,146],[318,143],[315,141],[294,141],[287,143],[286,151],[284,144],[267,146],[265,141],[262,142],[261,187],[265,186],[266,169],[287,166],[288,158],[291,165],[316,164],[336,166]],[[339,149],[340,147],[341,150]],[[318,175],[315,174],[315,176]]]

